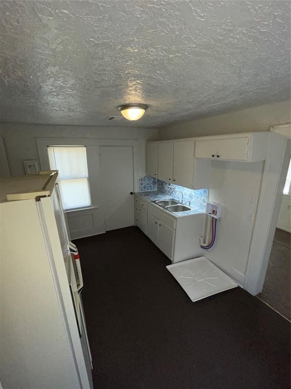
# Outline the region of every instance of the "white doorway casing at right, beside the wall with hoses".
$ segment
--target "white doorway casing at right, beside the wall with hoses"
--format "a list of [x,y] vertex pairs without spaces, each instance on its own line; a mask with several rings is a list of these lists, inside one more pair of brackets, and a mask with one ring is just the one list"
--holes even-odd
[[[288,126],[290,129],[290,125]],[[275,127],[270,129],[260,200],[246,269],[245,289],[254,296],[263,289],[290,162],[290,139],[282,135],[282,126],[278,126],[278,131],[275,130]],[[290,136],[289,134],[290,131],[287,135]]]

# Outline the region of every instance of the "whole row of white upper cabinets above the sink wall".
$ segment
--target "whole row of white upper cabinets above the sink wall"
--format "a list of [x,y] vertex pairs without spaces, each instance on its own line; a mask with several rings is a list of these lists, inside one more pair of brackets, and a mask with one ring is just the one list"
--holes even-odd
[[211,160],[264,161],[268,136],[258,132],[150,142],[147,174],[186,188],[212,187]]

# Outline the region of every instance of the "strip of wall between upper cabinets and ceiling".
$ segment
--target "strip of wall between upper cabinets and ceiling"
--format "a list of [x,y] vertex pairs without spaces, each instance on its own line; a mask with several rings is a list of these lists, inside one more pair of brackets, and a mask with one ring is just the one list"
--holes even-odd
[[269,131],[270,126],[291,122],[290,101],[265,104],[160,128],[160,139]]

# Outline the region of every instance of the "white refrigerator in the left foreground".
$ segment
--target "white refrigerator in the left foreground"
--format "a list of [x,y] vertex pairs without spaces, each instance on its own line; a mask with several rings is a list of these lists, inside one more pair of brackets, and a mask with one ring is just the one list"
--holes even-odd
[[92,389],[80,267],[58,174],[41,173],[0,179],[0,381]]

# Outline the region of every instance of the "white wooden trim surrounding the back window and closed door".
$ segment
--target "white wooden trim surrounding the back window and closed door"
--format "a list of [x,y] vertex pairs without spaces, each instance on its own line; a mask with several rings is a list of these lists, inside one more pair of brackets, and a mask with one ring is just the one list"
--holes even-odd
[[133,186],[138,191],[138,140],[137,139],[88,139],[88,138],[36,138],[41,170],[50,170],[47,146],[86,146],[89,173],[91,207],[65,211],[71,224],[76,220],[86,218],[92,223],[90,228],[80,228],[71,231],[72,239],[104,234],[105,213],[103,201],[103,186],[101,180],[100,146],[131,146],[133,150]]

